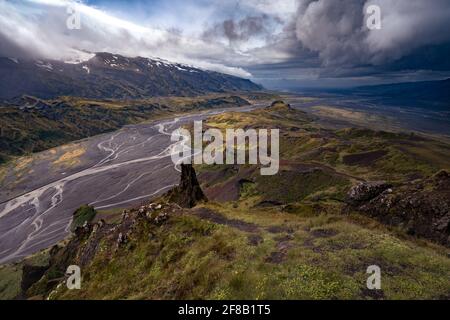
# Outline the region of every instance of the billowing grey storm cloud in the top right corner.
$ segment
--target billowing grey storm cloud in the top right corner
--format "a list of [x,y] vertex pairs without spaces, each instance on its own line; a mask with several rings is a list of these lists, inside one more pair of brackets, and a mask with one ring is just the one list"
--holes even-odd
[[[381,9],[381,29],[369,30],[366,8]],[[300,0],[297,39],[324,65],[383,65],[427,45],[450,41],[447,0]]]

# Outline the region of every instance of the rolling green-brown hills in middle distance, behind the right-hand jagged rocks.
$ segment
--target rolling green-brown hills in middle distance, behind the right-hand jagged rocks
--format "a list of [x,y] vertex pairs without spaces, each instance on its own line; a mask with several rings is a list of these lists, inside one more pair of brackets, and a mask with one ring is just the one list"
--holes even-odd
[[288,166],[320,167],[351,181],[402,182],[450,169],[450,144],[445,141],[361,128],[324,129],[306,113],[282,104],[217,115],[206,124],[219,129],[280,128],[280,157]]

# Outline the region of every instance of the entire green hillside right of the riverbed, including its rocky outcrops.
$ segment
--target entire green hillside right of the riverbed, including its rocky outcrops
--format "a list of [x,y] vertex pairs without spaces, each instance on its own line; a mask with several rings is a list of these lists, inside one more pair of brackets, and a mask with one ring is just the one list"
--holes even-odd
[[[215,115],[206,125],[276,125],[279,174],[201,165],[195,178],[183,169],[182,190],[123,212],[99,211],[70,241],[34,257],[36,268],[0,273],[24,272],[28,298],[449,297],[447,143],[324,129],[281,102]],[[57,286],[68,264],[82,268],[82,290]],[[381,268],[382,290],[366,287],[370,265]],[[30,270],[39,274],[31,283]]]

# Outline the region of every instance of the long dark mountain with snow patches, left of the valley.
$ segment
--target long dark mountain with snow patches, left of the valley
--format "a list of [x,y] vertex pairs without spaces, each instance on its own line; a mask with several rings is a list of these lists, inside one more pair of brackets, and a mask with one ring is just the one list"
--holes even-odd
[[0,99],[143,98],[192,96],[209,92],[257,91],[250,80],[161,59],[97,53],[85,62],[0,58]]

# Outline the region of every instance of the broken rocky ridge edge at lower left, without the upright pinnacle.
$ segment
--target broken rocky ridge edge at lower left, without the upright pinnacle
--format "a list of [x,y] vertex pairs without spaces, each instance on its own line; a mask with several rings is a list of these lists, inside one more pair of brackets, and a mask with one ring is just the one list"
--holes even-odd
[[[49,265],[24,268],[23,294],[20,298],[48,297],[66,281],[66,270],[70,265],[84,268],[92,263],[97,254],[113,257],[119,250],[131,250],[133,239],[147,227],[159,228],[171,216],[182,214],[182,209],[173,203],[150,203],[139,208],[124,210],[118,224],[104,220],[86,222],[77,227],[64,246],[50,250]],[[150,237],[154,237],[150,233]]]

